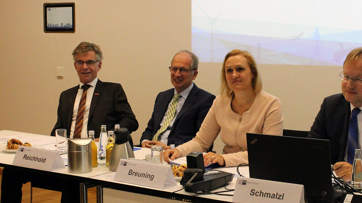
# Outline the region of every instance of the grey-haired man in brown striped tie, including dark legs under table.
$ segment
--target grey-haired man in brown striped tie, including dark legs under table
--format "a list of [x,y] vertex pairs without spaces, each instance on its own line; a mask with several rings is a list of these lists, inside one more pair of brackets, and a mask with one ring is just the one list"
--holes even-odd
[[[101,125],[107,125],[107,129],[112,130],[115,124],[127,128],[130,133],[137,130],[138,122],[122,86],[118,83],[102,82],[97,78],[102,66],[99,46],[82,42],[72,55],[80,84],[60,94],[58,120],[51,135],[55,136],[56,129],[67,129],[67,136],[70,138],[87,138],[88,130],[94,130],[95,137],[99,139]],[[83,89],[82,86],[85,85],[89,86]],[[81,105],[82,101],[84,105]],[[79,116],[80,114],[82,116]],[[61,191],[62,203],[80,200],[79,181],[50,175],[39,177],[37,173],[4,168],[1,203],[21,203],[22,185],[29,181],[46,189]]]

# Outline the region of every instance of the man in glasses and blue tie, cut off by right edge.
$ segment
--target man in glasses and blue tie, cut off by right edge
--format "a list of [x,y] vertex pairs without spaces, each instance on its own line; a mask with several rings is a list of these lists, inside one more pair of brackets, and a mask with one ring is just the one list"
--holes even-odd
[[[362,144],[362,47],[353,49],[343,64],[342,94],[328,96],[308,138],[328,139],[331,162],[338,177],[350,180],[354,150]],[[352,111],[352,113],[351,113]],[[354,113],[355,112],[355,113]]]

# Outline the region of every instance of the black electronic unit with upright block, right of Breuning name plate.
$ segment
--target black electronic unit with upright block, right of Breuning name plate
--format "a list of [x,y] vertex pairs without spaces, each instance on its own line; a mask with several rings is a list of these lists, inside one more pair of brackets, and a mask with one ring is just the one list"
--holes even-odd
[[220,170],[205,170],[201,152],[191,152],[186,156],[187,169],[180,184],[188,193],[213,190],[232,181],[232,173]]

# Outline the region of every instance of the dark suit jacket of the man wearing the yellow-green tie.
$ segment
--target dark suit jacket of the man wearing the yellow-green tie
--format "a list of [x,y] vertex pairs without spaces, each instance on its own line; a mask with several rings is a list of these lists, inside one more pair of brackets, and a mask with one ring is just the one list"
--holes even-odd
[[[157,95],[151,119],[148,121],[146,130],[142,133],[140,142],[144,139],[152,140],[153,135],[157,133],[173,95],[174,88],[160,92]],[[209,112],[214,99],[214,95],[198,88],[194,84],[173,123],[171,132],[167,138],[167,145],[175,144],[175,147],[177,147],[194,138],[207,112]]]

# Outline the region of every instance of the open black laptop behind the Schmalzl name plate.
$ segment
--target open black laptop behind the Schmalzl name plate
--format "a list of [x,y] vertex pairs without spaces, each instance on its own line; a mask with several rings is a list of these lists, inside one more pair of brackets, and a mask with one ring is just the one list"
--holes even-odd
[[308,202],[339,202],[329,141],[247,133],[251,178],[304,185]]

